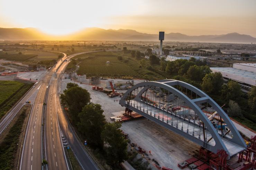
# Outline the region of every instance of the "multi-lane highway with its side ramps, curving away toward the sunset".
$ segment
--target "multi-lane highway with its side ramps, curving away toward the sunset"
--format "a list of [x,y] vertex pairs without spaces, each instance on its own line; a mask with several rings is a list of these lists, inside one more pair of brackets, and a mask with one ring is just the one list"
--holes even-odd
[[63,112],[59,97],[61,78],[68,64],[64,60],[71,59],[82,53],[73,54],[68,57],[65,54],[62,58],[63,61],[58,61],[56,66],[47,72],[43,80],[37,82],[6,117],[1,120],[0,133],[8,126],[23,104],[28,100],[31,101],[32,108],[21,147],[20,170],[42,169],[42,158],[44,158],[44,155],[47,161],[46,169],[69,170],[62,143],[63,137],[74,152],[82,169],[98,170],[98,166],[85,151],[80,140],[75,135],[72,126]]

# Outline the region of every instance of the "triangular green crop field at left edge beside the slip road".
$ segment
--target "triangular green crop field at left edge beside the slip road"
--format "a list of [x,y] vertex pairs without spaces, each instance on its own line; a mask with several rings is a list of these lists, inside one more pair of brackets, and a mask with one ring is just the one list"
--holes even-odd
[[18,81],[0,81],[0,119],[32,85]]

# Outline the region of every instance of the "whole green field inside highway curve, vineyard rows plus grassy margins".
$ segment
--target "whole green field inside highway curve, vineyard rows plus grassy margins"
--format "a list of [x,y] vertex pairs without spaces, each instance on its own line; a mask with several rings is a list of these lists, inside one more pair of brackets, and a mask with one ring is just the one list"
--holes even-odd
[[[118,60],[121,56],[122,60]],[[74,57],[79,69],[77,74],[102,77],[132,76],[147,80],[163,79],[160,74],[146,69],[149,61],[146,59],[137,60],[131,58],[130,54],[123,51],[103,51],[81,54]],[[110,63],[108,64],[107,61]]]

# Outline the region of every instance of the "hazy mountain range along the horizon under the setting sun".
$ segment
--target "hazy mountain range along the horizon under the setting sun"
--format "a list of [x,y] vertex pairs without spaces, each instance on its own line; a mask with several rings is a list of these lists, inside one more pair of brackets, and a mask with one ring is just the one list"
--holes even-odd
[[[158,41],[158,34],[147,34],[130,29],[86,28],[65,36],[51,36],[36,28],[0,28],[0,40],[126,40]],[[256,38],[239,33],[187,36],[165,33],[165,41],[255,43]]]

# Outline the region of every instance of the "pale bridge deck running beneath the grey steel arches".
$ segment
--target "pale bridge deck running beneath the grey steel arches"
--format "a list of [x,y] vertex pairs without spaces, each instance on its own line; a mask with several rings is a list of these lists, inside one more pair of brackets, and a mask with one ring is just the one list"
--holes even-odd
[[[204,140],[203,139],[203,128],[202,128],[202,126],[200,126],[198,124],[199,120],[195,120],[195,121],[188,120],[186,118],[183,118],[182,116],[175,115],[171,111],[168,111],[168,113],[167,113],[167,111],[164,111],[162,109],[159,109],[158,107],[152,106],[151,104],[146,104],[143,101],[131,100],[130,105],[132,107],[134,106],[135,108],[137,108],[137,106],[138,106],[138,109],[140,109],[141,111],[144,111],[144,113],[148,114],[149,116],[150,116],[150,112],[151,112],[151,116],[153,118],[155,117],[156,119],[163,120],[165,123],[167,123],[167,120],[168,120],[167,124],[170,124],[179,130],[182,130],[182,127],[183,127],[183,131],[188,132],[191,136],[193,136],[195,138],[199,138],[199,134],[200,134],[200,139],[202,141]],[[193,132],[194,132],[194,135],[193,135]],[[218,131],[218,133],[221,133],[221,132]],[[205,130],[205,137],[207,138],[206,141],[211,138],[211,134],[210,134],[210,132],[207,131],[207,129]],[[237,144],[232,143],[223,137],[221,137],[221,139],[222,139],[223,143],[225,144],[225,146],[227,147],[228,152],[230,153],[230,156],[233,156],[233,155],[239,153],[240,151],[244,150],[243,147],[238,146]],[[207,142],[205,142],[205,144],[206,143]],[[207,144],[214,146],[215,141],[213,139],[211,139]]]

